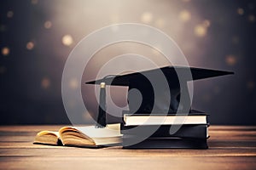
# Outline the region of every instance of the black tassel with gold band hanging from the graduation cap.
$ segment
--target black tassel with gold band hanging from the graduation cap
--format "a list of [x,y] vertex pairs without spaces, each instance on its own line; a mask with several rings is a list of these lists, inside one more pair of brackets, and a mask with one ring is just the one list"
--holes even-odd
[[101,82],[101,90],[100,90],[100,104],[98,110],[98,118],[96,127],[106,127],[107,119],[106,119],[106,83]]

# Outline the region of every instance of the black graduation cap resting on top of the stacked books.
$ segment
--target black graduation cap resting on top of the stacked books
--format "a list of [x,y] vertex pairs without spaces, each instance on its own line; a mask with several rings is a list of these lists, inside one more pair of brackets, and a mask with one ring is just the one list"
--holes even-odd
[[[166,66],[149,71],[108,76],[85,83],[101,84],[101,82],[105,82],[106,85],[111,86],[128,86],[128,105],[131,113],[150,113],[151,111],[173,113],[191,105],[187,82],[230,74],[234,74],[234,72],[184,66]],[[132,89],[137,89],[141,96],[134,93],[136,91]],[[180,103],[181,92],[185,96],[185,103]],[[138,99],[140,97],[142,99]]]

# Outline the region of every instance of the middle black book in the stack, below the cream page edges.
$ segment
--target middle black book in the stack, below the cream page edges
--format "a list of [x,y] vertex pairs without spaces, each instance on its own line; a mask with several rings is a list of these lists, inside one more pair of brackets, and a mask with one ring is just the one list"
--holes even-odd
[[[176,127],[174,127],[176,126]],[[126,137],[140,136],[141,134],[151,134],[150,137],[178,137],[178,138],[195,138],[207,139],[209,125],[145,125],[145,126],[124,126],[121,124],[121,133]],[[173,130],[178,129],[175,133],[170,133],[171,127]],[[179,128],[178,128],[179,127]],[[153,133],[154,132],[154,133]]]

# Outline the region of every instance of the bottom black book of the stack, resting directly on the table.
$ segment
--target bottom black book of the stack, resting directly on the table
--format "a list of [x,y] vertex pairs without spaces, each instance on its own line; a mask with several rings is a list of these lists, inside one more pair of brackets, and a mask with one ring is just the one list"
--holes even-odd
[[123,138],[124,149],[207,149],[207,139],[148,138],[132,144],[131,138]]

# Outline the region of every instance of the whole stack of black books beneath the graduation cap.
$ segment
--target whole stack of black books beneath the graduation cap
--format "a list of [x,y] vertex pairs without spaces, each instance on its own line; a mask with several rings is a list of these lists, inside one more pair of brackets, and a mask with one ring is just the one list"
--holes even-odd
[[123,147],[126,149],[186,148],[207,149],[207,114],[189,111],[189,114],[131,115],[123,111]]

